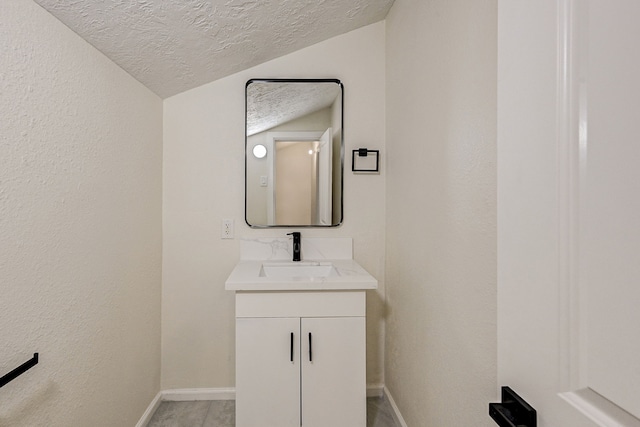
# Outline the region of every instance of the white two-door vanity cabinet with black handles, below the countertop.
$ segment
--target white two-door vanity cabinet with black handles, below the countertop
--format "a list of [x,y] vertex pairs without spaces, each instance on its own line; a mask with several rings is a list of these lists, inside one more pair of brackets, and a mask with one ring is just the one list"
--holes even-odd
[[236,292],[236,426],[365,427],[365,291]]

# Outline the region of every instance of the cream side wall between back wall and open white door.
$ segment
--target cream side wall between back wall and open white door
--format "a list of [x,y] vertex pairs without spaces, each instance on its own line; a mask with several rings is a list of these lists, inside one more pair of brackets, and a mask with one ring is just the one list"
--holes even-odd
[[409,426],[490,426],[495,0],[396,2],[387,30],[386,385]]

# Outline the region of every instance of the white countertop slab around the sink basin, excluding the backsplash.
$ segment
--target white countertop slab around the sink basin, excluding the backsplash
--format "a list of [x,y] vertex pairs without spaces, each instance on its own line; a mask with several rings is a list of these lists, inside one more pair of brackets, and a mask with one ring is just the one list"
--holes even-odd
[[[314,260],[305,259],[305,262]],[[378,281],[353,259],[320,259],[330,262],[336,276],[274,278],[260,275],[262,264],[268,260],[241,260],[225,282],[231,291],[317,291],[377,289]],[[291,264],[295,264],[291,261]]]

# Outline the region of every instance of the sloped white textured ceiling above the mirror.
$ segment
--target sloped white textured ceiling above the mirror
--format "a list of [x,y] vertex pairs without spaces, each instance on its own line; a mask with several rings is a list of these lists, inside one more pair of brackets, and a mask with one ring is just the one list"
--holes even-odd
[[380,21],[394,0],[34,1],[166,98]]

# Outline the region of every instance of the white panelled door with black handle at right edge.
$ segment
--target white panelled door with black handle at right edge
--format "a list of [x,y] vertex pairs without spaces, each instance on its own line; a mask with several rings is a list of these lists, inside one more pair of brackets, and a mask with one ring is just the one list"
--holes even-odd
[[498,381],[640,426],[640,2],[498,3]]

